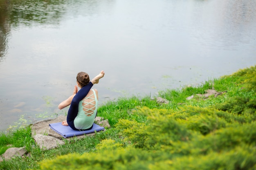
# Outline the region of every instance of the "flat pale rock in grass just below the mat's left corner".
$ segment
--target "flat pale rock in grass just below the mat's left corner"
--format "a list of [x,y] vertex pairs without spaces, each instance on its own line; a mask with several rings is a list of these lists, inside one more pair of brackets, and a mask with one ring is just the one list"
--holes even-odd
[[65,144],[63,140],[42,134],[37,134],[33,138],[36,144],[43,150],[53,149],[58,147],[59,145]]

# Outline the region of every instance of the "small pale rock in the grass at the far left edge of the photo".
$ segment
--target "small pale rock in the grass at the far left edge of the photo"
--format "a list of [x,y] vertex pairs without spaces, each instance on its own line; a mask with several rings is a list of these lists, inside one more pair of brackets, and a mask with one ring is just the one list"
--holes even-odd
[[4,159],[11,159],[13,157],[22,157],[27,150],[25,147],[22,148],[8,148],[4,154],[0,157],[0,162],[2,162]]

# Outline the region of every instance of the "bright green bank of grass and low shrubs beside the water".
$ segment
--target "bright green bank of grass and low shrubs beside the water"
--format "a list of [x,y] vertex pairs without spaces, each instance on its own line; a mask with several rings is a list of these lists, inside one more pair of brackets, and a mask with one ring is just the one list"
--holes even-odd
[[[223,93],[200,96],[213,88]],[[0,154],[11,144],[30,155],[3,161],[0,169],[256,169],[256,66],[159,96],[170,102],[145,96],[101,106],[98,114],[111,128],[52,150],[35,146],[29,126],[1,134]]]

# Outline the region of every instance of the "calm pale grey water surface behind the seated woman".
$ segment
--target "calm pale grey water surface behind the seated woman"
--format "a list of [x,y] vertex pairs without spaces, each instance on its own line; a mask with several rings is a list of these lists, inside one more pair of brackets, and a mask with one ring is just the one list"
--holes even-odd
[[[79,71],[100,104],[256,64],[256,0],[0,0],[0,130],[65,114]],[[27,121],[27,122],[26,122]]]

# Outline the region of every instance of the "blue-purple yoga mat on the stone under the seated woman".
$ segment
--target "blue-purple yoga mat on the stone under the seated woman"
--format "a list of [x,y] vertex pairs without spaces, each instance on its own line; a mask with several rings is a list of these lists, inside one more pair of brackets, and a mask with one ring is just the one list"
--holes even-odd
[[99,131],[105,129],[104,127],[101,127],[97,124],[93,124],[92,129],[79,131],[79,130],[73,130],[72,128],[70,128],[70,126],[63,126],[61,124],[61,122],[49,124],[49,126],[52,130],[54,130],[55,132],[57,132],[58,134],[60,134],[64,138],[84,135],[84,134],[88,134],[88,133],[93,133],[95,131],[99,132]]

